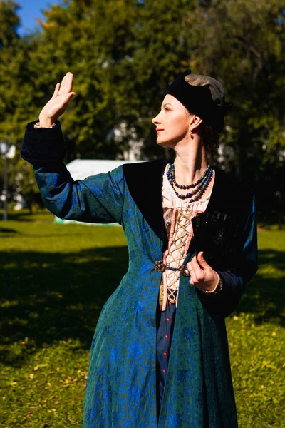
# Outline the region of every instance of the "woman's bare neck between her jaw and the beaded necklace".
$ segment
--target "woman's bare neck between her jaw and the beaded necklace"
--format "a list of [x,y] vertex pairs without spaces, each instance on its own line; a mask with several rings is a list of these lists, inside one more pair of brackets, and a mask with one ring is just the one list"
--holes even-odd
[[180,184],[194,183],[207,169],[206,149],[195,140],[190,145],[175,148],[175,175]]

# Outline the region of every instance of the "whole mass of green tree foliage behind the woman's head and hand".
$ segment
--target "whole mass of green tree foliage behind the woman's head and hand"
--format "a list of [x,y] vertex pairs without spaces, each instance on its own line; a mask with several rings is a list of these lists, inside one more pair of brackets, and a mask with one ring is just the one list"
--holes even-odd
[[63,0],[24,39],[17,7],[0,1],[0,138],[19,149],[26,122],[71,71],[76,97],[61,118],[67,161],[122,156],[134,135],[142,156],[163,156],[150,120],[167,83],[191,68],[222,81],[234,103],[219,162],[253,183],[260,208],[266,193],[266,215],[282,211],[283,0]]

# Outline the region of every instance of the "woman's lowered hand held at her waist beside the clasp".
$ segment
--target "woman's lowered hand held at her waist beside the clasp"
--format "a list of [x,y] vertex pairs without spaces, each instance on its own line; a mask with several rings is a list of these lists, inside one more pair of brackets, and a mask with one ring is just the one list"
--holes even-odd
[[190,284],[201,290],[212,291],[217,285],[218,274],[212,269],[204,259],[204,253],[200,251],[198,256],[194,256],[191,262],[187,263],[190,272]]

